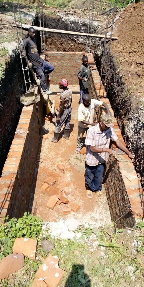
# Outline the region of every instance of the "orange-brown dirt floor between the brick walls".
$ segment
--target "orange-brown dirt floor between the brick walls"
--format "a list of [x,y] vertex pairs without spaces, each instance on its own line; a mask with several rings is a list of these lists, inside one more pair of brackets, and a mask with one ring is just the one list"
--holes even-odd
[[[85,155],[76,155],[75,153],[78,132],[77,110],[79,91],[78,86],[70,88],[75,89],[73,91],[70,138],[69,140],[65,140],[60,136],[57,144],[50,142],[49,139],[44,140],[41,138],[37,160],[40,158],[40,162],[42,162],[36,165],[35,168],[30,207],[32,207],[33,215],[37,214],[45,221],[55,221],[58,218],[64,220],[75,218],[81,224],[90,223],[100,226],[102,223],[108,224],[111,222],[107,198],[104,186],[102,188],[102,200],[97,202],[95,194],[91,200],[86,197],[84,181]],[[51,90],[55,92],[60,91],[58,86],[52,86]],[[54,95],[51,98],[55,98],[56,105],[58,105],[59,97]],[[45,122],[44,127],[49,131],[49,138],[52,137],[55,128],[54,122]],[[58,170],[57,163],[63,163],[65,173]],[[56,183],[52,187],[49,187],[48,191],[42,192],[41,187],[44,179],[48,176],[55,178]],[[50,196],[53,195],[57,198],[57,195],[63,188],[70,189],[71,196],[76,199],[76,203],[80,204],[80,209],[77,213],[72,212],[71,215],[63,215],[63,204],[56,205],[54,210],[46,208],[46,203]]]

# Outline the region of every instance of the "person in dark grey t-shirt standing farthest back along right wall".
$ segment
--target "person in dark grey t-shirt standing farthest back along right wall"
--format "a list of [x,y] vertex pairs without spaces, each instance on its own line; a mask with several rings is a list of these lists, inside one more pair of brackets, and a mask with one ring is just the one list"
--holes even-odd
[[83,102],[82,96],[83,94],[88,94],[89,89],[89,77],[90,77],[90,68],[96,68],[95,65],[89,65],[88,57],[83,56],[82,58],[82,65],[78,71],[78,79],[79,79],[79,90],[80,90],[80,104]]

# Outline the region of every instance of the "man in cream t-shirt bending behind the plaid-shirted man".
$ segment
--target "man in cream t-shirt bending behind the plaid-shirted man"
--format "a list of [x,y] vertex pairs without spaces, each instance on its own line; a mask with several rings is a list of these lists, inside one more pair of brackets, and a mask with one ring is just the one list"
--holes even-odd
[[79,153],[83,147],[83,136],[89,127],[95,126],[94,124],[94,108],[104,106],[106,114],[112,116],[109,107],[106,103],[91,99],[89,94],[83,94],[83,103],[78,107],[78,137],[76,153]]

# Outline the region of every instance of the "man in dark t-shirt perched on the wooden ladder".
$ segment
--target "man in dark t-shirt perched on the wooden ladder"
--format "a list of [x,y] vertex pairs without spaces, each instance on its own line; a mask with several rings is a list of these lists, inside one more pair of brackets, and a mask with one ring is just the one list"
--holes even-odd
[[37,51],[37,45],[35,41],[35,32],[36,31],[33,27],[29,28],[28,30],[29,37],[25,39],[23,44],[21,45],[22,56],[23,57],[25,56],[25,52],[24,52],[24,46],[25,46],[27,57],[30,63],[32,63],[32,68],[35,70],[38,78],[40,79],[43,92],[45,94],[51,94],[51,92],[48,91],[47,89],[45,77],[51,72],[53,72],[55,68],[50,63],[41,59]]

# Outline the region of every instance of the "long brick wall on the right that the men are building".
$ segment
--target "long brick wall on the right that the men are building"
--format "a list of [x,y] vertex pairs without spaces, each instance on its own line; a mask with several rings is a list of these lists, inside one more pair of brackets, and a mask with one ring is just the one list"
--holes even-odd
[[[89,62],[94,61],[92,54],[87,54]],[[114,132],[119,140],[125,145],[121,131],[117,125],[117,120],[114,117],[114,112],[111,108],[109,99],[102,98],[103,87],[100,90],[99,96],[100,77],[99,72],[91,70],[89,82],[89,94],[91,98],[102,100],[109,106],[109,110],[113,115]],[[106,94],[104,94],[104,97]],[[98,110],[98,120],[101,111]],[[115,149],[117,146],[114,142],[111,143],[111,148]],[[104,184],[109,204],[109,210],[112,221],[118,228],[134,227],[135,217],[143,218],[143,197],[144,192],[140,185],[140,180],[137,177],[133,164],[131,163],[128,155],[121,155],[125,162],[117,161],[114,157],[109,156],[106,164],[104,174]]]

